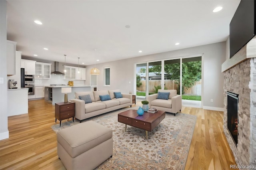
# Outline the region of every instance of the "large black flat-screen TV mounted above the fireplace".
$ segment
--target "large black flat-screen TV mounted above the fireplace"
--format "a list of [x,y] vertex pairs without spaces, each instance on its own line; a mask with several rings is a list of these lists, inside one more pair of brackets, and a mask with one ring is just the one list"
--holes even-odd
[[230,58],[256,35],[256,0],[241,0],[230,22]]

